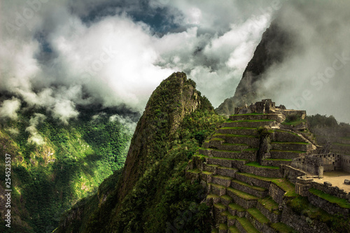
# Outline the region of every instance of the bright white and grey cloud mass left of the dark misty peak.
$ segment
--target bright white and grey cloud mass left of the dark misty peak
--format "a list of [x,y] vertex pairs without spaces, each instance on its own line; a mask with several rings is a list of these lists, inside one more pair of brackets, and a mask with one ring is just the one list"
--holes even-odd
[[0,91],[65,124],[78,105],[141,112],[174,71],[186,71],[218,106],[234,92],[271,16],[249,11],[250,1],[32,2],[1,3]]

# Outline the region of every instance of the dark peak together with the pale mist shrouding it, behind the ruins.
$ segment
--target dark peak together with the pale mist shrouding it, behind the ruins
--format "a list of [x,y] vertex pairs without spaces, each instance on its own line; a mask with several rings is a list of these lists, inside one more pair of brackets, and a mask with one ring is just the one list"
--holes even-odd
[[349,99],[347,8],[348,1],[286,2],[262,36],[230,104],[272,98],[287,108],[350,122],[348,109],[339,108]]

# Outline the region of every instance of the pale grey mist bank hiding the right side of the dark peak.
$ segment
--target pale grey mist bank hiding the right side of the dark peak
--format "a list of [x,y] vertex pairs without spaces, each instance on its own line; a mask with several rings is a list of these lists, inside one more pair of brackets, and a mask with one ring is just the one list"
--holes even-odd
[[342,107],[350,99],[349,7],[349,1],[288,1],[278,23],[293,35],[295,47],[265,73],[260,96],[350,122]]

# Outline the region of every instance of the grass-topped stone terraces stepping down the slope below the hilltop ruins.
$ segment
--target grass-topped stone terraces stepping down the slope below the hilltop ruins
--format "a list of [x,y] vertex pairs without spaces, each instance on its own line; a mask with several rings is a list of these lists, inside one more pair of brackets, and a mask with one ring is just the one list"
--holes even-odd
[[[205,202],[216,221],[212,232],[293,232],[280,223],[279,204],[294,192],[280,166],[313,147],[300,135],[279,129],[280,120],[278,113],[231,115],[194,155],[186,176],[207,185]],[[259,128],[271,139],[270,157],[260,163]]]

